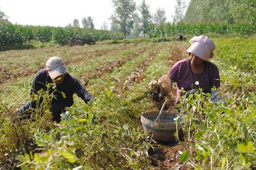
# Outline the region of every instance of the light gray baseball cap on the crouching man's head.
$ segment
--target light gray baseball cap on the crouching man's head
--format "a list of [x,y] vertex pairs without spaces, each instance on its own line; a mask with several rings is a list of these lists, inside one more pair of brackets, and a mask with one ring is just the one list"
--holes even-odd
[[46,69],[48,70],[51,79],[55,79],[67,72],[66,65],[60,57],[49,58],[46,62]]

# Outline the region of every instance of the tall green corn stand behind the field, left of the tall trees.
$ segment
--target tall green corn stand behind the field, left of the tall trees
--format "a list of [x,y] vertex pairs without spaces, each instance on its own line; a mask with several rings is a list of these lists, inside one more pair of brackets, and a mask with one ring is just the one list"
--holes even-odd
[[121,33],[114,31],[79,27],[20,26],[0,22],[0,46],[22,45],[30,40],[54,41],[60,45],[66,45],[70,37],[93,38],[96,41],[123,39]]

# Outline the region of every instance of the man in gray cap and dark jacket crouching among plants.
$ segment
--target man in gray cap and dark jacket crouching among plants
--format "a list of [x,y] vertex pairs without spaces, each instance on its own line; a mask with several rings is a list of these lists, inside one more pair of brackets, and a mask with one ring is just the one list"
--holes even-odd
[[[47,84],[53,85],[55,83],[56,88],[47,88]],[[60,57],[51,57],[46,62],[46,68],[41,69],[35,75],[32,83],[32,89],[30,95],[33,100],[26,103],[21,107],[17,113],[21,116],[28,109],[36,108],[36,106],[42,103],[42,98],[35,99],[35,96],[39,96],[40,90],[49,91],[49,94],[53,94],[55,97],[51,102],[52,120],[60,122],[60,114],[65,111],[66,107],[73,105],[73,94],[76,93],[87,104],[93,96],[88,93],[87,90],[79,83],[76,77],[67,73],[66,65]]]

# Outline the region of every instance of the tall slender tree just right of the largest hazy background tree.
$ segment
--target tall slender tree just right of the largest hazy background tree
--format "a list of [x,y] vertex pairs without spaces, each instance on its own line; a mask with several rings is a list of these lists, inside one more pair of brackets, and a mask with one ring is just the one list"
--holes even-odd
[[150,20],[151,20],[151,15],[149,13],[149,6],[148,4],[145,3],[145,0],[142,1],[142,3],[139,6],[140,14],[141,14],[141,30],[143,31],[143,36],[145,38],[145,33],[148,29]]

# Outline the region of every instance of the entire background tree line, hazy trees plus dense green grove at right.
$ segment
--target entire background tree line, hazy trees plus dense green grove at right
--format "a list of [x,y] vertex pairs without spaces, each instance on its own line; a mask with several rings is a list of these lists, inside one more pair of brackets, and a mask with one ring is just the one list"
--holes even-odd
[[[112,0],[114,12],[109,18],[111,31],[120,31],[126,37],[132,35],[145,37],[150,24],[161,26],[166,24],[166,11],[157,8],[154,14],[149,11],[149,5],[142,0],[137,6],[134,0]],[[255,0],[191,0],[184,14],[186,3],[184,0],[176,0],[172,26],[177,23],[227,23],[250,24],[256,29],[256,3]],[[0,19],[8,21],[8,17],[0,11]],[[87,17],[81,20],[83,28],[94,28],[93,18]],[[79,20],[74,19],[73,24],[67,27],[80,27]],[[108,23],[104,21],[102,30],[108,30]]]

